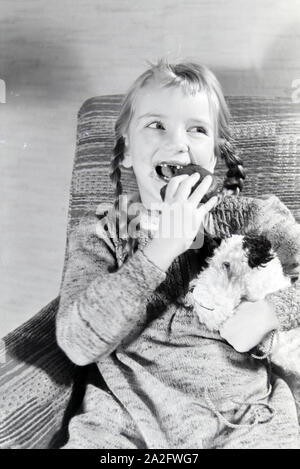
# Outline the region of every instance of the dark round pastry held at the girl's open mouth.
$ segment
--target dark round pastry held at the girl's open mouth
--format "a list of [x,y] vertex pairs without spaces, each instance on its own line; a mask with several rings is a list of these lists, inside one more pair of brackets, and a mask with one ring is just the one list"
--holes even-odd
[[[218,179],[216,178],[216,176],[214,176],[212,173],[210,173],[207,169],[204,169],[201,166],[196,165],[196,164],[189,164],[187,166],[180,166],[180,165],[175,165],[175,164],[161,163],[161,164],[157,165],[155,169],[156,169],[157,174],[162,179],[164,179],[165,181],[168,181],[168,182],[172,177],[179,176],[181,174],[191,175],[195,172],[199,173],[200,178],[198,179],[198,181],[192,187],[191,194],[194,192],[196,187],[199,186],[201,181],[203,181],[205,176],[208,176],[208,175],[212,176],[212,183],[211,183],[207,193],[205,194],[205,196],[203,197],[203,199],[201,201],[201,202],[204,202],[204,203],[207,202],[212,196],[218,194],[222,189],[222,187],[221,187]],[[167,189],[167,184],[165,186],[163,186],[160,190],[160,195],[161,195],[162,200],[165,200],[166,189]]]

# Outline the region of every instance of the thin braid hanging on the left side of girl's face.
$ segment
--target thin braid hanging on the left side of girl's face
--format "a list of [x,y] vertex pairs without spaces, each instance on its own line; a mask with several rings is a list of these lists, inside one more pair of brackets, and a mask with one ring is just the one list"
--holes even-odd
[[127,240],[124,238],[120,238],[120,196],[123,193],[123,186],[121,183],[121,169],[120,163],[124,159],[124,149],[125,149],[125,141],[123,137],[119,137],[116,141],[116,144],[113,148],[114,157],[111,161],[111,172],[110,172],[110,179],[112,183],[115,185],[115,201],[114,201],[114,209],[116,211],[116,232],[117,232],[117,239],[119,239],[122,243],[122,247],[126,248],[127,256],[130,257],[137,249],[137,239],[129,237]]

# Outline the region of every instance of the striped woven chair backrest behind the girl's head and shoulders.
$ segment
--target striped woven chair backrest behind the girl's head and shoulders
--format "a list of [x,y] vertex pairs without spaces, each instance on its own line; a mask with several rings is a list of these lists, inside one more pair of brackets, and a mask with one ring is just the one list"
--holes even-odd
[[[114,124],[122,95],[97,96],[78,112],[68,236],[82,215],[101,203],[111,203],[114,187],[109,178]],[[247,179],[243,193],[276,194],[300,222],[300,104],[287,98],[227,97],[232,132],[244,160]],[[219,164],[217,174],[226,168]],[[124,193],[137,190],[131,169],[122,168]]]

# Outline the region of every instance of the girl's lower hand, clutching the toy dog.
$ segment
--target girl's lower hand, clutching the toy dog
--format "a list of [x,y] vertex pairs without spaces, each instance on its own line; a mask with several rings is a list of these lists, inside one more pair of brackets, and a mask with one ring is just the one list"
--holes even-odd
[[220,335],[237,352],[248,352],[279,326],[272,306],[265,300],[243,301],[234,316],[227,319]]

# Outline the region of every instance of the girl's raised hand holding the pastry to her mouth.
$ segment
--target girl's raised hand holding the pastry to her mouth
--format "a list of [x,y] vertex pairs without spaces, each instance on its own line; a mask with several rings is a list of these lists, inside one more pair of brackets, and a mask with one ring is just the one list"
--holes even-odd
[[211,185],[211,176],[206,176],[191,194],[199,177],[198,173],[190,176],[183,174],[173,177],[167,185],[156,237],[165,243],[174,258],[190,248],[207,213],[217,202],[217,197],[212,197],[201,204]]

